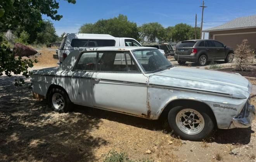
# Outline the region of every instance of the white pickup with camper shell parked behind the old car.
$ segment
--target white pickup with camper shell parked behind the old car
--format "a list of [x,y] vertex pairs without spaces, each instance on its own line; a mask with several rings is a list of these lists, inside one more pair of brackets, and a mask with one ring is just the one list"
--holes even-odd
[[62,62],[67,55],[74,49],[81,47],[124,47],[124,46],[142,46],[133,38],[118,38],[109,34],[76,34],[67,33],[64,35],[61,45],[54,59]]

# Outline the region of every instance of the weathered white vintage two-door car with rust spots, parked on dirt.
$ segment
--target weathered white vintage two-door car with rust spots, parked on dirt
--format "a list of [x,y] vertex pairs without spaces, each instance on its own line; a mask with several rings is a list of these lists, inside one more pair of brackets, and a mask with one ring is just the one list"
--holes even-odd
[[152,47],[98,47],[71,52],[59,67],[33,70],[35,98],[67,112],[78,104],[150,120],[202,140],[214,127],[247,128],[255,116],[252,85],[237,73],[172,66]]

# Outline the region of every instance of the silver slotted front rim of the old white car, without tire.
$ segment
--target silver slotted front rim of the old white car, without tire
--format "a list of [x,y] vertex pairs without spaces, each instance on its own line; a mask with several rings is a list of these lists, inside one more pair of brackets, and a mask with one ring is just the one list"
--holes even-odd
[[204,118],[194,109],[183,109],[176,115],[176,125],[184,133],[195,135],[204,128]]

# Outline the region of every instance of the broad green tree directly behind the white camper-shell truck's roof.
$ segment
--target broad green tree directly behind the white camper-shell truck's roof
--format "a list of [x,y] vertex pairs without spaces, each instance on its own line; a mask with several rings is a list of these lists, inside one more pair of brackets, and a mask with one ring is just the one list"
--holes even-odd
[[138,39],[138,29],[135,22],[130,22],[125,15],[111,19],[101,19],[95,23],[83,24],[79,33],[110,34],[114,37],[131,37]]

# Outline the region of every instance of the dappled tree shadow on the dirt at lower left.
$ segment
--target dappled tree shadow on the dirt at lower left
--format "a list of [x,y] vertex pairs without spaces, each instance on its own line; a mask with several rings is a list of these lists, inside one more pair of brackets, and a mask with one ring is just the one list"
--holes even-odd
[[0,77],[1,160],[98,160],[93,149],[107,145],[107,141],[91,132],[99,128],[100,118],[56,113],[45,100],[32,98],[29,83],[15,87],[15,78],[22,77]]

